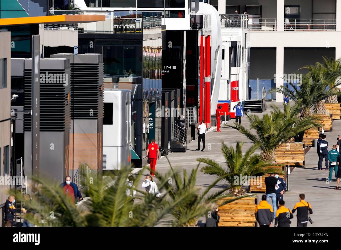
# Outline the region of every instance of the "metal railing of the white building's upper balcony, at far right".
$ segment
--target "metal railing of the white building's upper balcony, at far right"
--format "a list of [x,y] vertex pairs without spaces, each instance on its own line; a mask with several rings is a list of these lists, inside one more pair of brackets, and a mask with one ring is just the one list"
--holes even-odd
[[284,19],[285,31],[336,31],[336,19]]

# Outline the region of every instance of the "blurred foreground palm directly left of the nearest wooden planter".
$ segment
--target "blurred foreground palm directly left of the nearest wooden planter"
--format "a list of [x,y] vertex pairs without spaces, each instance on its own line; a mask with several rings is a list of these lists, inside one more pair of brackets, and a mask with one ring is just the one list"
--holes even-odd
[[[208,187],[202,188],[203,190],[201,192],[201,189],[195,186],[198,168],[199,165],[195,169],[192,169],[190,175],[187,174],[186,169],[183,169],[182,178],[172,165],[170,165],[170,172],[168,174],[161,176],[155,173],[155,176],[162,183],[165,183],[165,187],[167,187],[166,190],[168,190],[170,204],[173,207],[170,214],[175,218],[173,219],[172,225],[175,227],[196,226],[198,219],[204,216],[207,211],[211,211],[218,203],[219,206],[222,206],[244,197],[240,196],[219,201],[220,199],[232,196],[227,192],[229,187],[222,188],[214,193],[210,192],[222,178],[217,178]],[[173,181],[169,183],[169,176],[172,176],[175,185],[173,185]]]

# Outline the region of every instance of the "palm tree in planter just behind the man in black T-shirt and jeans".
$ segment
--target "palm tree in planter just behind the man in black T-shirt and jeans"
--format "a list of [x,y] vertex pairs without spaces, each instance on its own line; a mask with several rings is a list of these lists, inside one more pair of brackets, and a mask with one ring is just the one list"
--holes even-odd
[[199,158],[198,162],[205,163],[207,166],[201,169],[202,172],[217,176],[219,179],[224,179],[231,186],[231,193],[234,196],[239,196],[244,193],[241,188],[242,180],[240,177],[263,176],[268,173],[277,173],[276,168],[267,168],[273,164],[268,161],[263,161],[260,154],[255,151],[259,148],[254,144],[243,155],[242,146],[244,144],[237,141],[236,149],[233,146],[228,147],[222,142],[221,151],[226,161],[226,167],[220,166],[216,161],[209,158]]

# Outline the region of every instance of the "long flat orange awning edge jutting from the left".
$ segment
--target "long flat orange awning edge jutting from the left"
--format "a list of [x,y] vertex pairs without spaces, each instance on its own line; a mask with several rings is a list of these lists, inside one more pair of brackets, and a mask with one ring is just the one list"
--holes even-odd
[[104,15],[56,15],[37,17],[0,18],[1,26],[38,24],[38,23],[84,23],[105,21]]

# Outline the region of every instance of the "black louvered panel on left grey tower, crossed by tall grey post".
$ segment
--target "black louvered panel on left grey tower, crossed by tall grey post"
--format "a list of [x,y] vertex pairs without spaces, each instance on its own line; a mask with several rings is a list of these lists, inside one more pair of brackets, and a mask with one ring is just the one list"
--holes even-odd
[[[40,131],[65,131],[71,125],[71,70],[41,70],[40,73],[67,76],[52,82],[40,82]],[[56,79],[56,78],[55,78]],[[64,78],[64,80],[66,80]],[[31,70],[25,69],[25,111],[31,111]],[[31,131],[31,115],[25,114],[25,131]]]

